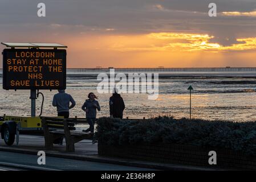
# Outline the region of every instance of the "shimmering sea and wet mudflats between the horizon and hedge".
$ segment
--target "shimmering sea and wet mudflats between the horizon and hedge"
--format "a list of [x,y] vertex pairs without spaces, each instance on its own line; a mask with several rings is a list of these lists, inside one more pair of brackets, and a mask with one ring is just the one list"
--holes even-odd
[[[116,73],[158,73],[159,97],[149,100],[148,93],[122,93],[125,102],[124,118],[152,118],[159,115],[189,118],[190,90],[192,118],[234,122],[256,119],[256,68],[127,68]],[[109,69],[67,69],[66,93],[76,101],[71,117],[85,117],[81,109],[87,95],[94,92],[101,110],[97,117],[109,116],[111,93],[98,93],[99,73]],[[55,116],[52,97],[57,90],[40,90],[44,94],[42,115]],[[30,115],[30,90],[3,90],[0,69],[0,115]],[[42,97],[36,100],[36,115],[40,113]]]

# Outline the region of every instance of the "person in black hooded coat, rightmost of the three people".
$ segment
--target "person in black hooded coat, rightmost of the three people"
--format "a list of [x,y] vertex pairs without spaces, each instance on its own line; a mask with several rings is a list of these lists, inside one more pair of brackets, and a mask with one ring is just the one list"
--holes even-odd
[[123,98],[117,92],[118,92],[117,88],[114,88],[113,94],[109,98],[109,112],[110,112],[110,117],[122,119],[125,105],[124,105]]

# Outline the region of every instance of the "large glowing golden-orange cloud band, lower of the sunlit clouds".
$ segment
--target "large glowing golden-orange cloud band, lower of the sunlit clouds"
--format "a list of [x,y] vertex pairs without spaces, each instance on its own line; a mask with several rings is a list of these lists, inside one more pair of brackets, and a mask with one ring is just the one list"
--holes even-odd
[[[114,44],[109,49],[115,51],[243,51],[256,49],[256,38],[240,38],[237,44],[222,46],[218,43],[211,43],[214,36],[207,34],[182,34],[172,32],[160,32],[147,35],[116,37]],[[113,39],[112,39],[113,40]]]

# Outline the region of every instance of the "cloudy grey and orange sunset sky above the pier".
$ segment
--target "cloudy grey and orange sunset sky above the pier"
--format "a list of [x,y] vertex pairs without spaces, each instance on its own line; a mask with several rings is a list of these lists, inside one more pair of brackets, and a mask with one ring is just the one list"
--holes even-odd
[[68,68],[256,67],[256,1],[0,0],[0,42],[64,44]]

